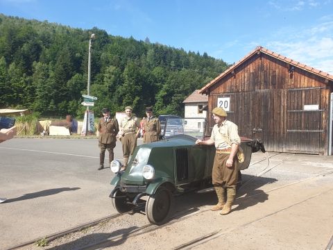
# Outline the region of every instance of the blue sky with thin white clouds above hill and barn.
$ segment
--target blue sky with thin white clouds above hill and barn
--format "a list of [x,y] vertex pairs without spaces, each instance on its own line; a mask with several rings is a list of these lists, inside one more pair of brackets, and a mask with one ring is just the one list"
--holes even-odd
[[0,0],[0,12],[96,26],[227,63],[260,45],[333,74],[333,0]]

